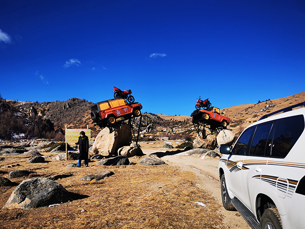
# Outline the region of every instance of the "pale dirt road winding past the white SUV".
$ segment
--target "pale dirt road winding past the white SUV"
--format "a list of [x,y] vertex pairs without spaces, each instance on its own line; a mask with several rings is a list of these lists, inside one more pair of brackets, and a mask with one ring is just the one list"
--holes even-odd
[[[148,155],[153,154],[154,150],[143,150],[143,152]],[[161,159],[171,166],[178,166],[182,170],[196,174],[197,186],[208,191],[222,206],[218,158],[205,157],[201,159],[201,157],[196,156],[174,154],[162,156]],[[227,225],[227,228],[251,228],[237,211],[227,211],[222,207],[220,212],[224,216],[224,224]]]

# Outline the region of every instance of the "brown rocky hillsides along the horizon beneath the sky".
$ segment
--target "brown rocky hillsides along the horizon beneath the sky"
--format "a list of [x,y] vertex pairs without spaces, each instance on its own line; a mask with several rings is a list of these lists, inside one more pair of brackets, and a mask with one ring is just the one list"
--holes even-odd
[[[251,123],[266,113],[305,101],[305,92],[280,99],[266,99],[252,104],[236,105],[221,110],[231,119],[228,129],[239,134]],[[55,138],[64,140],[68,128],[89,128],[95,137],[101,130],[90,117],[90,105],[85,99],[71,98],[55,102],[20,102],[0,99],[0,139]],[[217,104],[212,104],[217,107]],[[192,111],[190,111],[191,113]],[[137,129],[135,119],[134,129]],[[140,138],[153,140],[188,139],[197,135],[192,118],[188,116],[166,116],[143,113]]]

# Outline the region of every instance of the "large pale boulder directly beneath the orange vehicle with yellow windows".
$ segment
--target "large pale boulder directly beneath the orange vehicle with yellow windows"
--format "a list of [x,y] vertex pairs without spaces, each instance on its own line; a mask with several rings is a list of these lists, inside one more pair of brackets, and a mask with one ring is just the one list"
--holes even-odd
[[103,156],[117,155],[119,148],[130,145],[131,137],[131,128],[126,123],[116,125],[113,129],[106,127],[97,135],[93,153]]

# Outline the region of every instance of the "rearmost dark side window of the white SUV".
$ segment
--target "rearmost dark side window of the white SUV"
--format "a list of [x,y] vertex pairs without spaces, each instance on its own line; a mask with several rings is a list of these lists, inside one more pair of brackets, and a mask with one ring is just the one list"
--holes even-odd
[[304,118],[302,115],[277,120],[271,157],[286,157],[303,130]]

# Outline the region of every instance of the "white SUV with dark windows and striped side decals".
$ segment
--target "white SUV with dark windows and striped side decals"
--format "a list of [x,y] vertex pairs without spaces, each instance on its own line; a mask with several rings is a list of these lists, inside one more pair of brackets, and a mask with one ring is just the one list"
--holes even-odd
[[305,228],[305,108],[292,110],[299,106],[305,102],[263,116],[233,148],[219,147],[224,208],[252,228]]

